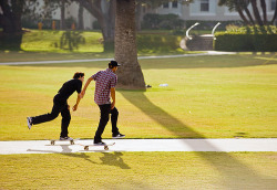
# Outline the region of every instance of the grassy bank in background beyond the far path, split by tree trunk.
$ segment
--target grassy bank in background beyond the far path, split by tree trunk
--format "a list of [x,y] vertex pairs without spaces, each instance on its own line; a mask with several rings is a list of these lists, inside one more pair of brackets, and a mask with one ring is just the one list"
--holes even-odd
[[[157,31],[158,32],[158,31]],[[183,35],[172,35],[167,32],[137,33],[138,55],[183,54],[179,41]],[[103,36],[100,31],[51,31],[29,30],[22,35],[22,52],[48,53],[89,53],[91,56],[113,54],[113,44],[104,50]],[[111,50],[110,50],[111,49]],[[3,49],[1,49],[3,50]],[[6,52],[10,52],[7,50]],[[103,53],[104,52],[104,53]]]

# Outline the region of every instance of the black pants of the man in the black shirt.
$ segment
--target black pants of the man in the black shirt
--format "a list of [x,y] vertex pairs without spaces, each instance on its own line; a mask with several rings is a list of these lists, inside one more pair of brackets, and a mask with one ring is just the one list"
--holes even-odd
[[60,136],[68,137],[68,134],[69,134],[68,128],[70,125],[71,115],[70,115],[69,105],[66,101],[60,101],[59,98],[54,97],[52,112],[50,114],[44,114],[44,115],[32,117],[32,124],[37,125],[37,124],[53,120],[54,118],[59,116],[60,113],[62,115]]

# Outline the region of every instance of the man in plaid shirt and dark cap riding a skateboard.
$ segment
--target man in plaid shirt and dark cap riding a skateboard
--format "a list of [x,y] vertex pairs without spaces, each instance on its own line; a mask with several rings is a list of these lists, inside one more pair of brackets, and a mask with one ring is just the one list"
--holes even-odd
[[[123,138],[125,135],[122,135],[117,128],[117,117],[119,110],[115,107],[115,85],[117,83],[117,76],[115,74],[117,66],[116,61],[111,61],[109,63],[109,68],[105,71],[100,71],[96,74],[92,75],[85,83],[83,91],[81,93],[84,96],[86,87],[91,83],[91,81],[95,81],[95,93],[94,93],[94,102],[99,105],[100,108],[100,122],[99,127],[94,136],[94,144],[105,145],[102,141],[102,134],[105,129],[105,126],[109,122],[109,117],[111,114],[112,122],[112,137],[113,138]],[[111,97],[112,101],[111,102]]]

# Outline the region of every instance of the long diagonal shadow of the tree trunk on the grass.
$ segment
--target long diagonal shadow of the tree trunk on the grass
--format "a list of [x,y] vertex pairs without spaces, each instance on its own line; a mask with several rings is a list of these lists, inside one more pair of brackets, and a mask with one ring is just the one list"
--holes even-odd
[[[120,91],[120,93],[135,107],[141,109],[144,114],[150,116],[153,120],[158,123],[165,129],[170,130],[172,134],[178,136],[178,138],[186,137],[181,134],[188,134],[188,136],[194,136],[196,138],[204,138],[205,136],[198,134],[189,126],[183,124],[181,120],[170,115],[155,104],[153,104],[142,91],[131,92],[131,91]],[[162,119],[161,119],[162,118]],[[178,131],[175,130],[177,126]],[[183,131],[179,131],[182,128]],[[194,149],[193,145],[188,145]],[[208,141],[206,141],[206,147],[213,147]],[[204,160],[206,160],[213,168],[220,172],[223,177],[223,186],[227,189],[242,189],[242,188],[257,188],[257,187],[277,187],[277,180],[267,176],[260,176],[255,172],[252,168],[237,160],[227,152],[209,154],[209,152],[197,152]],[[185,162],[181,162],[185,165]]]

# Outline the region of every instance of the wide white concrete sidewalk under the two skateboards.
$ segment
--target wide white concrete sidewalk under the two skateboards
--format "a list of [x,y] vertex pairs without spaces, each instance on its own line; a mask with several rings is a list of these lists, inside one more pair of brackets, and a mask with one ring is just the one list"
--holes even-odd
[[[115,142],[109,151],[277,151],[277,138],[255,139],[103,139]],[[81,145],[91,145],[92,139],[70,141],[50,140],[0,141],[0,155],[13,154],[69,154],[106,151],[103,147],[90,147],[85,151]]]

